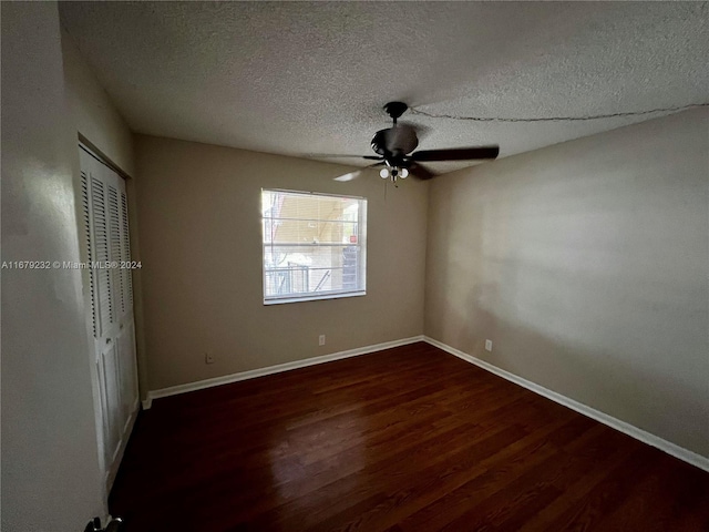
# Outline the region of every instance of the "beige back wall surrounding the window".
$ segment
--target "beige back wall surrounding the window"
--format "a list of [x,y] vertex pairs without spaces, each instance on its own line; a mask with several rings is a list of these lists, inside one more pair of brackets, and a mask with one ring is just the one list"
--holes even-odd
[[[151,136],[136,167],[150,389],[422,334],[427,183]],[[263,305],[261,187],[368,198],[367,296]]]

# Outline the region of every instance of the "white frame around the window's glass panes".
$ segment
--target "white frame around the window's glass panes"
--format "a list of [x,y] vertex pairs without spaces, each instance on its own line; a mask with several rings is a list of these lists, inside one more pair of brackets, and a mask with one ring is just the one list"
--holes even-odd
[[[266,242],[266,222],[267,219],[274,219],[273,217],[264,215],[264,205],[263,197],[264,192],[274,192],[274,193],[284,193],[290,195],[302,195],[302,196],[319,196],[319,197],[336,197],[336,198],[347,198],[347,200],[356,200],[359,202],[358,208],[358,221],[357,221],[357,246],[359,248],[358,256],[358,279],[361,279],[361,283],[357,288],[346,289],[346,290],[328,290],[328,291],[318,291],[318,293],[290,293],[288,295],[280,296],[267,296],[266,295],[266,286],[267,286],[267,268],[266,268],[266,250],[268,245],[274,245],[273,243]],[[282,188],[261,188],[260,200],[261,205],[261,282],[263,282],[263,295],[264,295],[264,305],[280,305],[286,303],[299,303],[299,301],[315,301],[321,299],[339,299],[345,297],[358,297],[367,295],[367,198],[362,196],[350,196],[345,194],[327,194],[320,192],[306,192],[306,191],[290,191]],[[276,218],[278,219],[278,218]],[[305,218],[304,218],[305,219]],[[331,221],[326,221],[331,222]],[[287,245],[287,244],[284,244]]]

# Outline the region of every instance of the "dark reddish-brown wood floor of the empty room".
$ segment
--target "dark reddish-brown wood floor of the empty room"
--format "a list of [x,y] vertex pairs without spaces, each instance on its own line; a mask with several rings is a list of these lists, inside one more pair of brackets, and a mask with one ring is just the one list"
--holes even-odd
[[154,401],[141,531],[709,531],[709,473],[427,344]]

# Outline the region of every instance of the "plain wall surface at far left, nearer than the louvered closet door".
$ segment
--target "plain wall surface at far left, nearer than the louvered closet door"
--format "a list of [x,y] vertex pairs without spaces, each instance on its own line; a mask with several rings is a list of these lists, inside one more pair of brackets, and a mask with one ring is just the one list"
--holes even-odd
[[[2,2],[2,260],[79,260],[54,2]],[[2,270],[2,530],[105,512],[81,273]]]

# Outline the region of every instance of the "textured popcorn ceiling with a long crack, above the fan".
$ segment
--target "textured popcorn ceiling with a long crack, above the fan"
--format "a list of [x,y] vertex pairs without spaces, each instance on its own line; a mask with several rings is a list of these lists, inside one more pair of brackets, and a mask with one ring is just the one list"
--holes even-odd
[[[60,11],[131,129],[270,153],[371,154],[391,100],[510,119],[709,102],[707,2],[61,2]],[[420,149],[500,144],[505,156],[662,114],[402,121],[425,131]]]

